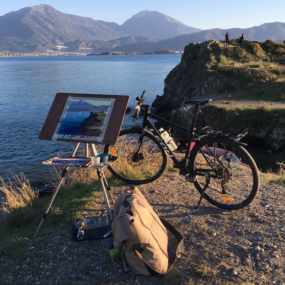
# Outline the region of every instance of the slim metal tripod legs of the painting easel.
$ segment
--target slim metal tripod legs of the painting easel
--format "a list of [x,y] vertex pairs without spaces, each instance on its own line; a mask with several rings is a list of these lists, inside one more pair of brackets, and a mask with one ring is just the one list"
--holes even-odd
[[[74,149],[73,149],[73,151],[72,151],[71,157],[75,156],[75,154],[76,154],[76,152],[77,152],[77,150],[78,150],[79,145],[80,145],[80,143],[76,143],[76,145],[75,145],[75,147],[74,147]],[[91,153],[92,153],[92,155],[94,156],[95,154],[97,154],[97,150],[96,150],[94,144],[90,144],[90,146],[91,146]],[[85,156],[85,157],[89,157],[89,144],[88,144],[88,143],[85,143],[84,156]],[[106,166],[107,166],[107,165],[106,165]],[[109,187],[109,185],[108,185],[108,183],[107,183],[106,177],[105,177],[104,172],[103,172],[103,168],[104,168],[105,166],[104,166],[104,167],[93,167],[93,166],[91,166],[91,167],[97,169],[97,175],[98,175],[98,178],[99,178],[99,181],[100,181],[100,184],[101,184],[101,188],[102,188],[102,191],[103,191],[103,194],[104,194],[105,202],[106,202],[106,205],[107,205],[107,210],[108,210],[110,219],[113,220],[113,213],[112,213],[112,210],[111,210],[111,207],[110,207],[110,203],[109,203],[109,199],[108,199],[108,196],[107,196],[106,189],[107,189],[107,191],[108,191],[108,193],[109,193],[109,196],[110,196],[110,198],[111,198],[112,204],[114,204],[114,201],[113,201],[113,197],[112,197],[111,192],[110,192],[110,187]],[[27,251],[26,251],[26,253],[25,253],[25,255],[24,255],[24,258],[27,257],[27,254],[29,253],[29,251],[30,251],[30,249],[31,249],[31,247],[32,247],[32,245],[33,245],[35,239],[36,239],[36,236],[38,235],[38,232],[39,232],[39,230],[40,230],[40,228],[41,228],[41,226],[42,226],[42,224],[43,224],[45,218],[47,217],[47,213],[48,213],[49,210],[50,210],[50,207],[51,207],[51,205],[52,205],[52,203],[53,203],[53,201],[54,201],[54,198],[55,198],[56,194],[58,193],[58,191],[59,191],[59,189],[60,189],[60,187],[61,187],[61,184],[63,183],[64,178],[65,178],[65,176],[66,176],[67,173],[68,173],[69,168],[70,168],[70,167],[68,166],[68,167],[65,167],[65,168],[63,169],[62,178],[61,178],[61,180],[59,181],[58,186],[56,186],[56,188],[55,188],[55,190],[54,190],[54,192],[53,192],[53,194],[52,194],[52,197],[51,197],[51,199],[50,199],[50,202],[49,202],[49,204],[48,204],[48,206],[47,206],[45,212],[44,212],[43,215],[42,215],[42,220],[41,220],[41,222],[40,222],[40,224],[39,224],[39,226],[38,226],[38,229],[37,229],[37,231],[36,231],[34,237],[33,237],[32,240],[31,240],[31,243],[30,243],[29,247],[27,248]]]

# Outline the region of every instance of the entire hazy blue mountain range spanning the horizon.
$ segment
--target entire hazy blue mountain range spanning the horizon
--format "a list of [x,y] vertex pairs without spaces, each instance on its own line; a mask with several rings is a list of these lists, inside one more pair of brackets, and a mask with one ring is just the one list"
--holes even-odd
[[183,50],[189,42],[224,40],[226,31],[231,39],[244,33],[250,40],[285,40],[282,22],[248,29],[202,31],[157,11],[145,10],[119,25],[62,13],[41,4],[0,16],[0,53]]

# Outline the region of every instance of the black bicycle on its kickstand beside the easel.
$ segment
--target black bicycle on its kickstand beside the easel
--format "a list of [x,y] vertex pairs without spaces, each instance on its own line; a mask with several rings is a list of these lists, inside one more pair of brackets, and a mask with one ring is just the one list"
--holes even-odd
[[[195,134],[195,123],[201,107],[212,101],[186,100],[195,109],[190,129],[169,122],[150,112],[150,105],[143,104],[146,91],[137,97],[137,105],[132,113],[133,122],[144,109],[142,127],[121,130],[115,146],[105,146],[104,152],[115,147],[119,152],[119,162],[108,166],[118,179],[129,184],[146,184],[156,180],[165,170],[167,158],[173,160],[179,174],[194,184],[203,197],[222,209],[241,209],[249,205],[258,194],[260,178],[257,165],[244,149],[246,144],[240,139],[247,132],[230,132],[203,128],[203,134]],[[157,130],[150,119],[176,127],[188,133],[186,151],[182,159],[174,149],[174,141],[165,132]]]

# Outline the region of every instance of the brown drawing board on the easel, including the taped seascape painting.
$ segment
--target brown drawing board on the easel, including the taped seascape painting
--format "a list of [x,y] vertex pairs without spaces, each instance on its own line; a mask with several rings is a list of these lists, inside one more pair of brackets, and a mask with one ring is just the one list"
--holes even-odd
[[113,144],[129,96],[58,93],[40,139]]

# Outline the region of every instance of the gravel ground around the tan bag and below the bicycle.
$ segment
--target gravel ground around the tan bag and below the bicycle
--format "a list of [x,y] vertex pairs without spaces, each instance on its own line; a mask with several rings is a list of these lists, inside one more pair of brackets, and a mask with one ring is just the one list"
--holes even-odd
[[[116,197],[126,188],[122,183],[111,190]],[[285,284],[284,187],[262,185],[257,198],[236,211],[218,209],[205,200],[195,211],[200,195],[177,173],[165,173],[139,189],[185,238],[185,251],[166,275],[124,273],[122,262],[109,258],[110,238],[78,242],[73,225],[50,229],[43,224],[26,260],[14,261],[9,252],[1,255],[7,270],[1,272],[0,283]],[[97,202],[97,209],[82,216],[106,214],[103,194]]]

